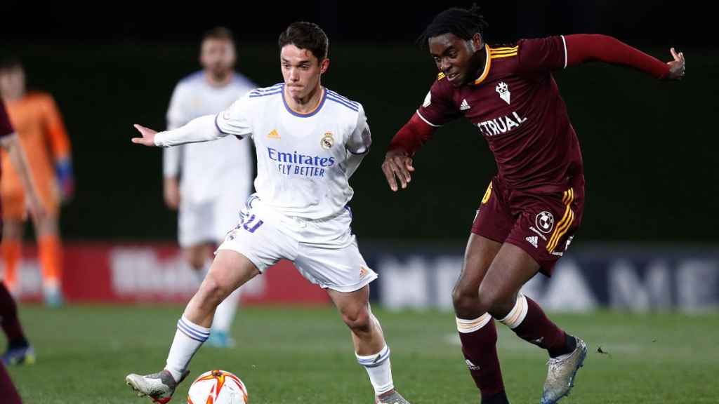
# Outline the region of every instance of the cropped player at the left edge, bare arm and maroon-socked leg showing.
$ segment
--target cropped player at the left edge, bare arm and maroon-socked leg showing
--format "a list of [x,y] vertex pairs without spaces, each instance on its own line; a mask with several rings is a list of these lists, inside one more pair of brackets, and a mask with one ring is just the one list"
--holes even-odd
[[[30,170],[27,165],[27,159],[22,151],[22,145],[17,134],[10,124],[10,119],[5,111],[4,104],[0,101],[0,147],[7,153],[11,164],[16,168],[19,174],[19,180],[27,190],[28,204],[32,219],[40,221],[45,212],[40,203],[40,197],[37,196],[37,188],[32,181]],[[0,170],[0,175],[2,171]],[[1,181],[0,181],[1,182]],[[1,210],[1,205],[0,205]],[[2,219],[0,218],[0,227]],[[0,233],[0,237],[2,234]],[[12,380],[5,371],[4,364],[18,364],[35,362],[35,354],[32,346],[25,337],[20,320],[17,316],[17,306],[3,283],[0,283],[0,326],[8,340],[8,349],[2,356],[0,363],[0,398],[2,403],[19,404],[20,396],[17,394]]]

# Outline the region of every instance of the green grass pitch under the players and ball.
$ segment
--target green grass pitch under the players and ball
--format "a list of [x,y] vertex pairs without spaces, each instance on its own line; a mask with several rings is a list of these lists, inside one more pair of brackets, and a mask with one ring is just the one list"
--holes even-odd
[[[37,363],[9,369],[24,403],[150,403],[124,384],[129,372],[161,369],[179,306],[20,308]],[[452,313],[375,309],[385,329],[395,386],[414,404],[479,403]],[[590,346],[563,404],[718,403],[719,316],[598,312],[553,315]],[[498,324],[512,403],[539,403],[546,353]],[[190,378],[234,372],[255,404],[372,403],[372,387],[333,308],[241,308],[234,349],[203,346]],[[606,354],[597,352],[601,347]],[[185,403],[190,382],[170,403]],[[1,400],[0,400],[1,401]]]

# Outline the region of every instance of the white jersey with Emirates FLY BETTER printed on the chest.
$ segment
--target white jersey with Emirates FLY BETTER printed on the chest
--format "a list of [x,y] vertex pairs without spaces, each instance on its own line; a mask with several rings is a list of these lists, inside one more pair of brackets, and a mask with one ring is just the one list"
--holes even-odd
[[321,91],[319,105],[309,114],[289,108],[280,83],[250,91],[215,117],[222,135],[254,140],[255,195],[285,216],[347,214],[354,192],[349,177],[372,142],[362,105]]

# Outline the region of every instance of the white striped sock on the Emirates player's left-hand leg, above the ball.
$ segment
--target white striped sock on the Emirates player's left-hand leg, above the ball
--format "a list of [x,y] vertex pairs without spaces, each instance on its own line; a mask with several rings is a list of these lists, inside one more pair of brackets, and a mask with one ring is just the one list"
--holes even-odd
[[170,371],[175,381],[180,381],[190,359],[209,336],[210,329],[192,323],[185,316],[178,320],[178,331],[175,331],[175,339],[170,346],[168,362],[165,365],[165,369]]

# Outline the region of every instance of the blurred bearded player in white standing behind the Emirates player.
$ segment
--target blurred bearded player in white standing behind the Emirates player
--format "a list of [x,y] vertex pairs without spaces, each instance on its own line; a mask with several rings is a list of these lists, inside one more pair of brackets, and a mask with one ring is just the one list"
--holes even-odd
[[[229,29],[216,27],[203,35],[203,70],[175,86],[168,109],[168,129],[181,127],[199,116],[217,114],[255,88],[254,83],[234,72],[235,60]],[[237,201],[244,201],[252,192],[250,147],[250,142],[226,137],[163,150],[165,204],[178,210],[180,247],[188,264],[202,277],[214,249],[237,221]],[[208,344],[233,345],[229,329],[238,298],[239,289],[217,307]]]

